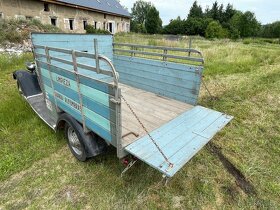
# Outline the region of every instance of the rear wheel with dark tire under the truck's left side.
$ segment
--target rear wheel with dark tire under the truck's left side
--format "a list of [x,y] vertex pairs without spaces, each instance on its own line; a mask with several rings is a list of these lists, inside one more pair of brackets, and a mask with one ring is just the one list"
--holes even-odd
[[[80,126],[78,124],[78,126]],[[76,128],[70,123],[65,125],[65,136],[71,153],[79,160],[86,161],[87,155],[85,150],[84,142],[81,140],[82,134],[80,133],[81,129]]]

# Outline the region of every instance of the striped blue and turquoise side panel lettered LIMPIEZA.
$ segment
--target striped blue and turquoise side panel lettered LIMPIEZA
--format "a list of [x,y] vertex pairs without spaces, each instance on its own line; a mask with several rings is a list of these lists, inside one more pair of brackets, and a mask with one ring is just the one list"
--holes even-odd
[[[51,79],[47,70],[41,67],[41,71],[43,74],[42,80],[44,88],[49,100],[53,103],[57,103],[59,108],[69,113],[80,122],[82,122],[81,109],[83,109],[83,113],[86,117],[86,126],[115,145],[116,106],[110,102],[110,97],[113,97],[110,95],[110,93],[113,92],[113,87],[102,88],[104,84],[99,84],[98,81],[94,80],[91,80],[91,86],[95,86],[95,88],[89,87],[83,84],[82,79],[81,93],[83,106],[81,107],[77,83],[72,79],[68,79],[68,77],[73,77],[74,74],[68,73],[68,77],[64,77],[60,74],[53,73],[54,88],[52,88]],[[96,87],[98,89],[96,89]]]

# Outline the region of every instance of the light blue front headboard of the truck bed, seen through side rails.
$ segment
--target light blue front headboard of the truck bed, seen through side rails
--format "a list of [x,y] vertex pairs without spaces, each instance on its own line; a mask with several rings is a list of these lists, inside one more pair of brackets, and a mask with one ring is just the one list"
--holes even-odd
[[[94,39],[98,41],[98,53],[105,55],[110,60],[113,60],[113,38],[111,35],[91,35],[91,34],[32,34],[33,45],[42,45],[47,47],[55,47],[62,49],[71,49],[76,51],[95,53],[94,52]],[[43,49],[36,49],[36,53],[45,54]],[[68,61],[72,61],[71,55],[67,55],[61,52],[50,51],[50,56],[62,58]],[[43,59],[44,60],[44,59]],[[90,58],[77,58],[78,63],[86,64],[95,67],[96,63],[94,59]],[[52,61],[57,67],[73,70],[73,65],[68,65],[58,61]],[[100,61],[100,68],[109,70],[109,66],[104,61]],[[96,74],[92,71],[86,71],[84,69],[78,69],[81,73],[88,76],[93,76],[99,80],[108,79],[109,77],[102,74]]]

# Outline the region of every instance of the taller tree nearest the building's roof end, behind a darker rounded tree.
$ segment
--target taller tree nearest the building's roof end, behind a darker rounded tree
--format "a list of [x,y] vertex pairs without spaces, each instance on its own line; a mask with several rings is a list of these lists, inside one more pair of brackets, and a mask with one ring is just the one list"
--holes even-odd
[[151,2],[145,2],[143,0],[136,1],[131,9],[132,21],[135,21],[137,24],[145,24],[148,11],[151,7]]

